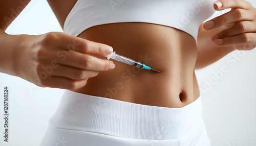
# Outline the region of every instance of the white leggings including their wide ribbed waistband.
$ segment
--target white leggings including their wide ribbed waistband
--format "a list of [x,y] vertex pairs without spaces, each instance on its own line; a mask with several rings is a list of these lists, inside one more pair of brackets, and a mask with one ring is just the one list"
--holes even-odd
[[210,146],[201,96],[182,108],[123,102],[66,90],[40,146]]

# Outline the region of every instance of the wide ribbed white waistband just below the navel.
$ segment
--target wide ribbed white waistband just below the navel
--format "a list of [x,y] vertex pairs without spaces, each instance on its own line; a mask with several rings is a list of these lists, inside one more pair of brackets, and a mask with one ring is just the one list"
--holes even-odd
[[201,96],[182,108],[123,102],[66,90],[50,123],[60,129],[95,132],[123,138],[182,138],[201,126]]

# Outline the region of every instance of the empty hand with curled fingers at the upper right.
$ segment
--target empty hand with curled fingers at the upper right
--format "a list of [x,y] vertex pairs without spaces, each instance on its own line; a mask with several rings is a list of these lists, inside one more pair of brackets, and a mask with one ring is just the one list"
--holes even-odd
[[256,9],[244,0],[220,0],[214,3],[217,11],[231,11],[204,23],[205,30],[224,26],[225,29],[211,37],[218,46],[233,46],[237,50],[256,47]]

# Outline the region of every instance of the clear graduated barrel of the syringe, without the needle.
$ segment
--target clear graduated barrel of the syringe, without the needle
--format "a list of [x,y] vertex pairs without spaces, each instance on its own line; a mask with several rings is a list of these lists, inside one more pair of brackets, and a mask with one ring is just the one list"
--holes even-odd
[[138,61],[135,61],[133,59],[130,59],[130,58],[127,58],[127,57],[124,57],[124,56],[121,56],[121,55],[118,55],[118,54],[115,54],[115,53],[112,54],[111,58],[114,59],[114,60],[129,64],[129,65],[138,67],[138,68],[143,68],[143,66],[144,66],[143,63],[140,63]]

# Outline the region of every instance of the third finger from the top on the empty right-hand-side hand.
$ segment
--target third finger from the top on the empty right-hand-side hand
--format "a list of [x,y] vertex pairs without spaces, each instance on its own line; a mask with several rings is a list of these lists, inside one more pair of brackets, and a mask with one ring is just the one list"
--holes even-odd
[[256,33],[256,25],[255,22],[251,21],[239,21],[237,23],[234,23],[234,25],[230,28],[227,28],[218,34],[211,37],[212,41],[215,41],[216,39],[239,35],[242,33]]

